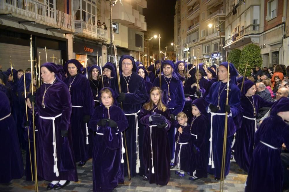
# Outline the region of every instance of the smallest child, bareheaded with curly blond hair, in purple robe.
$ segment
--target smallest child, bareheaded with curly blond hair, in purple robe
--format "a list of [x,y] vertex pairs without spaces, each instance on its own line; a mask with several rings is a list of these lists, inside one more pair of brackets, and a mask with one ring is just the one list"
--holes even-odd
[[185,172],[189,171],[189,155],[190,147],[189,141],[191,138],[190,125],[187,124],[188,118],[186,113],[180,112],[177,114],[177,126],[178,130],[175,134],[175,165],[179,168],[175,171],[181,177],[185,176]]

